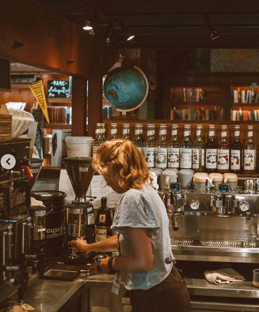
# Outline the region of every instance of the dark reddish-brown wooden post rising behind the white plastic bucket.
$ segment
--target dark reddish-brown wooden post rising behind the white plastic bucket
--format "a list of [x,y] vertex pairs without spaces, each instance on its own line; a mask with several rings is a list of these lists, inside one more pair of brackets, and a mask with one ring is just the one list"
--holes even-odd
[[86,136],[87,79],[72,78],[72,136]]

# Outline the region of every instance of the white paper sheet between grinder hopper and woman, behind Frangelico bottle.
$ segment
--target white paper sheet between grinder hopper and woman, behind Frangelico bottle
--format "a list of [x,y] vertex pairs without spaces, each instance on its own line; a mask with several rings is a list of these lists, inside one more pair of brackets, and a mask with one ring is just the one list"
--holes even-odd
[[107,206],[109,208],[116,208],[118,200],[122,194],[118,194],[109,186],[106,185],[106,181],[102,175],[94,175],[91,182],[91,193],[92,196],[96,196],[96,199],[92,202],[94,208],[101,206],[101,198],[107,197]]

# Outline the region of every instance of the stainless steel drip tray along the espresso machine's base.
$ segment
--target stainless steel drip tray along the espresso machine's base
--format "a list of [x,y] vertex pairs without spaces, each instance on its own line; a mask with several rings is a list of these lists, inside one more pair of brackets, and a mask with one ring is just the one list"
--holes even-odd
[[259,263],[258,243],[171,239],[171,244],[177,260]]

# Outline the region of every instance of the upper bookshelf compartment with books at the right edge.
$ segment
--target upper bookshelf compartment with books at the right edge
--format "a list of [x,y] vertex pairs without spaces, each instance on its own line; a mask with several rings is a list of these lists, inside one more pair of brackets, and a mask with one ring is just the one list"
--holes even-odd
[[259,103],[259,87],[256,84],[251,86],[230,86],[230,102],[231,105],[236,104],[258,104]]

